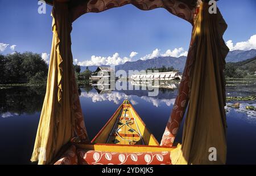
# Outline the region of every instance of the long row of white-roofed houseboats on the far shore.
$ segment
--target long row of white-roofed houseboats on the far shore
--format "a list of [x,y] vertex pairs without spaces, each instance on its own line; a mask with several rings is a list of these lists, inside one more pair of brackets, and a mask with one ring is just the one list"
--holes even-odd
[[134,74],[131,75],[131,79],[134,81],[143,81],[143,80],[181,80],[181,74],[177,71],[170,72],[152,72],[144,74]]

